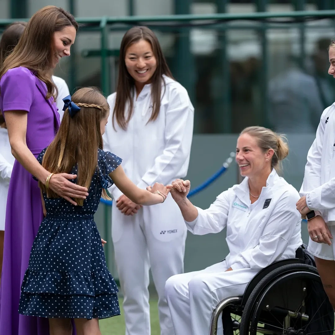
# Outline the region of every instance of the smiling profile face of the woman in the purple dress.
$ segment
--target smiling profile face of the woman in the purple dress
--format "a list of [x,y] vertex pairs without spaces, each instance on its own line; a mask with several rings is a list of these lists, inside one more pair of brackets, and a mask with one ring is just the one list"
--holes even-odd
[[60,31],[54,33],[54,62],[55,67],[59,60],[64,56],[70,56],[70,47],[76,38],[76,29],[72,26],[66,26]]

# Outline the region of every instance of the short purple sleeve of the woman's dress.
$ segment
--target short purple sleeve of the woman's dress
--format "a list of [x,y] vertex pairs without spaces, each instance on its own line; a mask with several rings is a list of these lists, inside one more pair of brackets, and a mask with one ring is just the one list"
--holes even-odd
[[3,111],[29,112],[34,100],[35,76],[25,67],[8,70],[0,80]]

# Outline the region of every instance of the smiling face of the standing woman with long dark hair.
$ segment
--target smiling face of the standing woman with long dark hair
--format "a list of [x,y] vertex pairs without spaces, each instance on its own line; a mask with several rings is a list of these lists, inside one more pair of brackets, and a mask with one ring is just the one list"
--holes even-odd
[[151,44],[145,40],[130,45],[126,51],[125,63],[128,73],[135,82],[143,85],[150,82],[157,68]]

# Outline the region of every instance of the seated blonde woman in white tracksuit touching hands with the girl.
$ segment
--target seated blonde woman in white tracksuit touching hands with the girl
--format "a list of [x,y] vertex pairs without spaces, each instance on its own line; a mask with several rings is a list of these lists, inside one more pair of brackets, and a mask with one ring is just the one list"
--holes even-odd
[[208,209],[195,207],[186,198],[189,181],[173,182],[171,194],[188,230],[204,235],[226,227],[229,248],[224,261],[166,281],[176,335],[208,334],[212,312],[221,300],[242,296],[251,279],[271,263],[295,258],[303,243],[295,207],[299,194],[277,174],[288,154],[283,139],[263,127],[244,129],[237,141],[236,161],[246,178],[222,192]]

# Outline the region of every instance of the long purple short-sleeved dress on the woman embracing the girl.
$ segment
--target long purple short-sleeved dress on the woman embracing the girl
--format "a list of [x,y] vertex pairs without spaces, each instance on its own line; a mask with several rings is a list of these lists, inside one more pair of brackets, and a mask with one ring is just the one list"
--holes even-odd
[[[0,80],[0,110],[27,111],[26,143],[37,157],[54,139],[59,114],[47,87],[25,67],[8,70]],[[41,193],[31,174],[15,160],[10,179],[0,286],[0,334],[48,335],[47,318],[19,315],[20,287],[34,238],[43,220]]]

